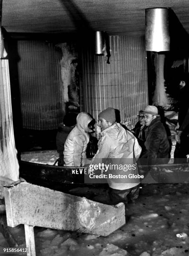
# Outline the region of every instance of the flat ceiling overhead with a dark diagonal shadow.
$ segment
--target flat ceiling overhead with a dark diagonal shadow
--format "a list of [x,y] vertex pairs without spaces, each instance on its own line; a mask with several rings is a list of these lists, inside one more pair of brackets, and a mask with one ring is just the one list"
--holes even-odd
[[145,9],[169,7],[189,33],[189,0],[3,0],[2,26],[13,33],[144,35]]

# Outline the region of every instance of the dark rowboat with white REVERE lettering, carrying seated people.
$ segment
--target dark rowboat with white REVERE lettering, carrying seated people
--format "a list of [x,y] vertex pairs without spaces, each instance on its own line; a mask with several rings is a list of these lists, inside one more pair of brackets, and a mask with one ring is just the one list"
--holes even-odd
[[[57,159],[56,151],[24,152],[20,161],[20,177],[32,184],[62,192],[74,187],[107,185],[106,179],[98,179],[98,182],[90,180],[85,167],[54,166]],[[189,183],[189,163],[186,159],[177,164],[169,161],[168,164],[154,165],[150,170],[142,165],[139,172],[147,177],[141,183]]]

